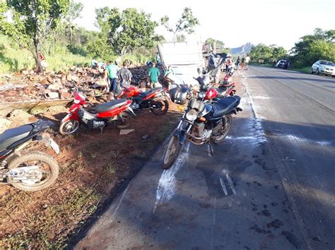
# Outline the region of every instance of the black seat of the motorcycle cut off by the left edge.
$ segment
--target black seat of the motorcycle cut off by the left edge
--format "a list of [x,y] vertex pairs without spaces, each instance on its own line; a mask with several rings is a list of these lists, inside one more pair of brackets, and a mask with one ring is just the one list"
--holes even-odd
[[31,130],[33,130],[32,125],[23,125],[6,130],[0,134],[0,151],[8,148],[8,146],[11,146],[14,142],[18,142],[20,139],[28,137]]

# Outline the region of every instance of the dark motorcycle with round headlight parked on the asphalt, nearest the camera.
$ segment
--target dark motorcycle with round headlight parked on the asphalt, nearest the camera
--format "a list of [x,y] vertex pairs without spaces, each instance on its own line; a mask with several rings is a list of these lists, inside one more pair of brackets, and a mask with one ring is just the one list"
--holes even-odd
[[191,99],[167,144],[162,167],[172,166],[186,140],[196,145],[206,143],[214,154],[211,142],[223,142],[232,126],[232,114],[242,111],[239,104],[240,96],[228,96],[212,103]]

